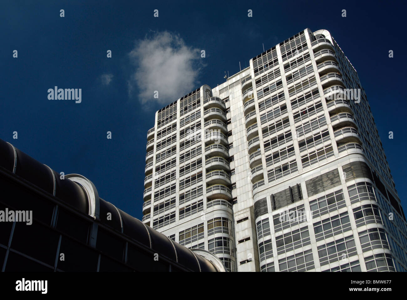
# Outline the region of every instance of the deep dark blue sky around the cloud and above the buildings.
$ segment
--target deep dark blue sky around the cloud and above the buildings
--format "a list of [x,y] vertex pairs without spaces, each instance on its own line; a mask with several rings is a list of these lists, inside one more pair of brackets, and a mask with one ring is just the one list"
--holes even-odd
[[[300,32],[327,29],[356,68],[406,211],[405,4],[392,1],[3,1],[0,138],[57,172],[77,173],[99,196],[141,219],[147,130],[164,105],[128,93],[129,52],[151,31],[206,50],[195,85],[223,83],[249,59]],[[65,17],[59,10],[65,10]],[[153,10],[159,17],[153,17]],[[247,17],[252,9],[253,17]],[[346,9],[347,17],[341,17]],[[18,50],[18,58],[13,58]],[[106,51],[112,50],[112,58]],[[394,50],[394,58],[388,57]],[[114,77],[108,85],[102,74]],[[82,103],[47,90],[81,88]],[[187,93],[188,91],[186,91]],[[166,104],[183,95],[171,98]],[[13,139],[18,131],[18,139]],[[112,132],[112,139],[106,132]],[[394,132],[394,139],[388,132]]]

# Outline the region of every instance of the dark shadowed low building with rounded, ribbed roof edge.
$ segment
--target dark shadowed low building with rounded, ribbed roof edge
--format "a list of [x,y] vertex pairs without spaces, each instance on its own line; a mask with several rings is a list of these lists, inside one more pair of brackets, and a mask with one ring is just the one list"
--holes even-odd
[[3,272],[225,272],[210,252],[195,253],[99,198],[87,178],[60,176],[0,140]]

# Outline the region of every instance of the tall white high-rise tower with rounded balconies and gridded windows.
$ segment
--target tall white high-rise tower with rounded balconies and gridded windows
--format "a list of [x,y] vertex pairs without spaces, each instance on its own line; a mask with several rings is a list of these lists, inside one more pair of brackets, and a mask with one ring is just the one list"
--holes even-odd
[[307,28],[157,111],[147,140],[144,224],[228,270],[407,270],[370,107],[328,31]]

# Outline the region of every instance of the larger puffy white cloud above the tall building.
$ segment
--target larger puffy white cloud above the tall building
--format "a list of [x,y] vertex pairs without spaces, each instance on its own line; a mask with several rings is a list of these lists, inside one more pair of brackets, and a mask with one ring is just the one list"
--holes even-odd
[[[129,57],[136,70],[128,81],[129,96],[142,104],[166,105],[196,88],[199,50],[185,45],[179,35],[167,31],[137,41]],[[158,98],[154,98],[158,91]]]

